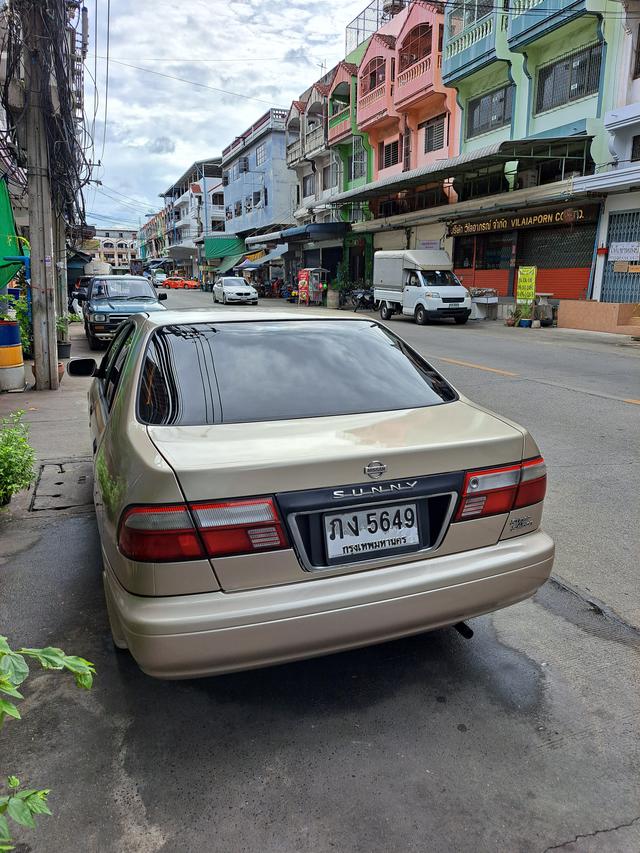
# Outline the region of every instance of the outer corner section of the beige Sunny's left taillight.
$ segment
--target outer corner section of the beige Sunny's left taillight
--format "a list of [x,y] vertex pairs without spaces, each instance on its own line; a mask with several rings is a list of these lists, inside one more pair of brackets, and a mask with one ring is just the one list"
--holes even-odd
[[120,522],[120,551],[141,563],[173,563],[204,557],[186,506],[139,506]]

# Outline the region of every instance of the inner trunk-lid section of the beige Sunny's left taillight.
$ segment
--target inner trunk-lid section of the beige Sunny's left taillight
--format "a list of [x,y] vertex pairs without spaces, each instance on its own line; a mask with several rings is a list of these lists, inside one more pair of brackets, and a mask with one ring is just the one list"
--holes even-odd
[[287,539],[272,498],[193,504],[209,557],[284,548]]

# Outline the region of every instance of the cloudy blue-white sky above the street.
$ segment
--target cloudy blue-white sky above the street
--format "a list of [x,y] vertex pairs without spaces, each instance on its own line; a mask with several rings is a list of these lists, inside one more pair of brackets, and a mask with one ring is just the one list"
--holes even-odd
[[102,164],[93,175],[102,184],[84,191],[87,222],[134,228],[195,160],[219,155],[270,106],[288,109],[339,62],[346,25],[367,0],[86,5],[85,112]]

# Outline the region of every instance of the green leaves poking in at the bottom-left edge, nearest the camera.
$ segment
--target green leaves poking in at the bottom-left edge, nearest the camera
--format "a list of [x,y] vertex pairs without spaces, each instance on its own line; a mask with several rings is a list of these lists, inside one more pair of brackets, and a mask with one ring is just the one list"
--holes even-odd
[[[85,658],[66,655],[53,646],[14,651],[7,638],[0,635],[0,694],[12,699],[23,698],[18,687],[29,677],[28,659],[35,660],[44,670],[70,672],[76,686],[83,690],[93,685],[95,667]],[[20,720],[20,711],[14,702],[0,698],[0,728],[7,718]],[[47,805],[48,788],[22,788],[17,776],[8,776],[6,789],[8,793],[0,795],[0,853],[15,849],[8,818],[19,826],[35,829],[34,815],[51,814]]]

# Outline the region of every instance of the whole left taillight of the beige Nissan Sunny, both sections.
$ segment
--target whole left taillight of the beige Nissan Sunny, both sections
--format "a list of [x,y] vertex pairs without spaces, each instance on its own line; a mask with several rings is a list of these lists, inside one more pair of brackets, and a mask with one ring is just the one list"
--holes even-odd
[[273,499],[256,498],[131,507],[118,545],[131,560],[172,563],[274,551],[285,548],[287,538]]

